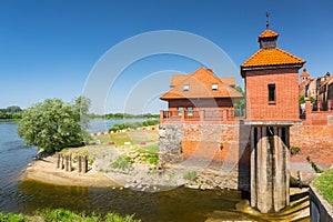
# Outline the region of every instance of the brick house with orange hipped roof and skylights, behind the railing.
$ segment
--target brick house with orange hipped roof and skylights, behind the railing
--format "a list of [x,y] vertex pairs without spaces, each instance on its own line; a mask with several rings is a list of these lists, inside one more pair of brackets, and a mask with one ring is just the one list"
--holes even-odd
[[211,69],[204,68],[191,74],[172,75],[171,89],[160,98],[168,101],[168,111],[160,113],[161,123],[233,121],[233,103],[243,98],[234,85],[234,78],[218,78]]

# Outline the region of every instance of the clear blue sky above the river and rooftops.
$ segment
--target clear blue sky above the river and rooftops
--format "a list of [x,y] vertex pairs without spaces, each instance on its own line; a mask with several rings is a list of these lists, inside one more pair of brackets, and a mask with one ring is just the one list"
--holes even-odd
[[[0,0],[0,108],[27,108],[47,98],[71,101],[108,50],[149,31],[203,37],[224,50],[239,71],[259,49],[266,11],[280,48],[306,60],[311,77],[333,73],[332,9],[332,0]],[[137,61],[113,82],[104,111],[158,113],[167,105],[158,93],[144,110],[125,102],[134,85],[152,73],[191,73],[200,65],[165,54]],[[154,83],[161,93],[172,73],[165,72],[167,83]]]

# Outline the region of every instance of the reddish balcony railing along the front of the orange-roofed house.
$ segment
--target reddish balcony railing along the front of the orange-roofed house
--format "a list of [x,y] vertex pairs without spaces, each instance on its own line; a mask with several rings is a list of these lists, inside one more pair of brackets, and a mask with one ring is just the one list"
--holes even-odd
[[222,110],[199,110],[199,111],[160,111],[160,122],[182,122],[182,123],[222,123],[230,124],[238,120],[234,117],[234,109],[226,108]]

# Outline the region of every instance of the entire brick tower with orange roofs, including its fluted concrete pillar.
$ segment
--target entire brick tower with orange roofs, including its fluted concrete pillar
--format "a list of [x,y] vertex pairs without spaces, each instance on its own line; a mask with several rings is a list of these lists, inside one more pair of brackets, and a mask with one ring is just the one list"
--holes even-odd
[[260,49],[241,64],[245,80],[246,119],[251,125],[251,206],[262,213],[289,205],[290,127],[300,122],[299,69],[304,60],[276,47],[269,29]]

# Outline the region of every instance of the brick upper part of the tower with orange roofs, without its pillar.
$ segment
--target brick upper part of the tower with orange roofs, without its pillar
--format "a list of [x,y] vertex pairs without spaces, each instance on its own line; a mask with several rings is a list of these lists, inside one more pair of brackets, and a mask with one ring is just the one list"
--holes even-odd
[[299,69],[304,60],[276,47],[279,34],[263,31],[260,49],[241,64],[246,119],[299,121]]

